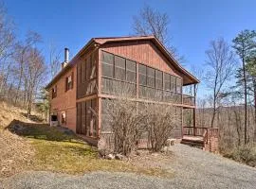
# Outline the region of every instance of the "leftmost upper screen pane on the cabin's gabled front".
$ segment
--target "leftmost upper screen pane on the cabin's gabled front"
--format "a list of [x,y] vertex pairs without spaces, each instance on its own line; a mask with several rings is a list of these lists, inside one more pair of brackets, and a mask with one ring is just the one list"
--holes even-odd
[[102,76],[114,77],[114,56],[110,53],[102,53]]

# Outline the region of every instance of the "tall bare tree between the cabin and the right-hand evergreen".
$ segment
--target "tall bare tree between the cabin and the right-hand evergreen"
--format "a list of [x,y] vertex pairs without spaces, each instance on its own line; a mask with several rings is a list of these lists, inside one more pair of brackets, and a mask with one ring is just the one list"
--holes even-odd
[[226,95],[224,91],[225,85],[234,73],[236,62],[233,53],[229,49],[229,44],[223,39],[210,42],[210,49],[206,51],[206,55],[209,67],[206,81],[208,87],[212,89],[213,111],[210,122],[212,128],[220,100]]

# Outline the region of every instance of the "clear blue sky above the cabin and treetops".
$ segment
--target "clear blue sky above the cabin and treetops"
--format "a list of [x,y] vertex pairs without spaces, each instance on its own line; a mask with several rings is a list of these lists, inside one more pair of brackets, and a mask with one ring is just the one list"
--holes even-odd
[[[27,30],[39,32],[46,49],[54,43],[75,55],[93,37],[132,33],[133,16],[145,3],[167,12],[172,42],[185,56],[186,67],[203,66],[211,40],[228,42],[243,29],[256,28],[255,0],[6,0],[9,16],[23,38]],[[46,57],[46,60],[48,58]]]

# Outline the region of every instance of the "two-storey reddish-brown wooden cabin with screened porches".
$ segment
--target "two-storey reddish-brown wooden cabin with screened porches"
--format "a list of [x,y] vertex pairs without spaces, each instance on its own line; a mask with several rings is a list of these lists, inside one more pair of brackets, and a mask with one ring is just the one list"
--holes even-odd
[[[119,97],[113,86],[128,85],[137,102],[154,101],[175,107],[180,126],[172,137],[196,135],[195,98],[184,94],[183,88],[194,87],[199,80],[154,36],[93,38],[69,62],[67,57],[65,53],[61,72],[46,86],[50,113],[57,116],[59,125],[97,146],[109,133],[105,98]],[[192,125],[186,129],[183,111],[188,109]]]

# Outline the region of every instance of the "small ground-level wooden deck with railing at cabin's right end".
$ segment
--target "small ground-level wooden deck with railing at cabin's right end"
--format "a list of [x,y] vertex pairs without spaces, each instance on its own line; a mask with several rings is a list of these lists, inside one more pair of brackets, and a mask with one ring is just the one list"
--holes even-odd
[[192,128],[183,127],[181,144],[195,146],[210,152],[218,152],[217,128]]

